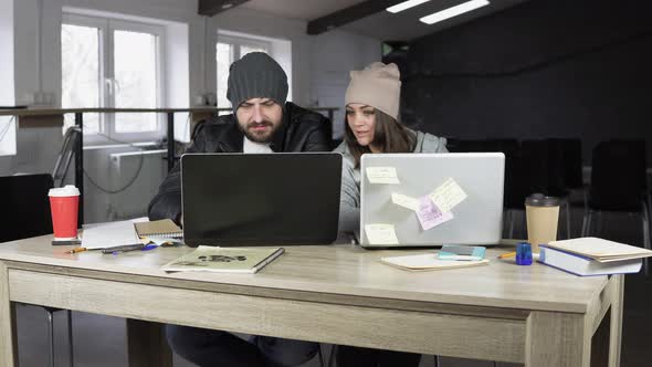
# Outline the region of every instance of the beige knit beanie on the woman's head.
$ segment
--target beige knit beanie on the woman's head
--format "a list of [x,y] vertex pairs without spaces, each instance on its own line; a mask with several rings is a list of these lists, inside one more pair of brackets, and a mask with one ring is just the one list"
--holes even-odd
[[351,73],[345,104],[361,103],[398,119],[401,96],[401,73],[396,64],[375,62],[365,70]]

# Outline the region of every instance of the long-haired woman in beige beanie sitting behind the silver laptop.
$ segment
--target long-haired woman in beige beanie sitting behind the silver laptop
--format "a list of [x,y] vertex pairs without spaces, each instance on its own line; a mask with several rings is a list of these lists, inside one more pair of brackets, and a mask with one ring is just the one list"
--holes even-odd
[[[360,227],[360,157],[366,153],[445,153],[446,140],[414,132],[398,120],[400,73],[396,64],[372,63],[353,71],[346,91],[346,132],[335,151],[344,155],[339,231]],[[400,336],[397,336],[400,337]],[[369,348],[339,346],[340,367],[418,366],[421,356]]]

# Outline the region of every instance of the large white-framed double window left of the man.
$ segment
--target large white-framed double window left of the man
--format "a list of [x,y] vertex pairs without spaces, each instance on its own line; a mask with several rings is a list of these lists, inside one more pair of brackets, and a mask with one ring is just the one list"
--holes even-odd
[[[61,28],[62,107],[157,108],[162,105],[164,28],[65,14]],[[158,114],[84,114],[84,133],[118,140],[156,139]],[[66,116],[65,126],[74,124]]]

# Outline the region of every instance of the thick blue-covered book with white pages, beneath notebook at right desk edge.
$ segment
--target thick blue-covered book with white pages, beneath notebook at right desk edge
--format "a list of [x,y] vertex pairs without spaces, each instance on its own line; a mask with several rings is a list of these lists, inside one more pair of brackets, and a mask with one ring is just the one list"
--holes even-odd
[[539,247],[539,262],[581,276],[638,273],[641,271],[642,264],[641,259],[599,262],[588,256],[553,249],[544,244]]

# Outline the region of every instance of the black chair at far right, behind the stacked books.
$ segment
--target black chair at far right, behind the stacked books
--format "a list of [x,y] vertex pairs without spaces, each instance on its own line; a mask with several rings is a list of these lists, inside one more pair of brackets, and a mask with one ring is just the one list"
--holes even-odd
[[[650,249],[645,168],[644,140],[610,140],[596,146],[582,235],[595,232],[595,216],[598,216],[596,227],[599,231],[602,211],[638,213],[643,226],[643,245]],[[648,261],[644,262],[644,268],[648,274]]]

